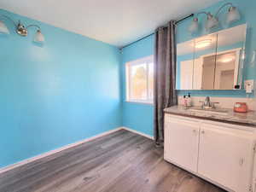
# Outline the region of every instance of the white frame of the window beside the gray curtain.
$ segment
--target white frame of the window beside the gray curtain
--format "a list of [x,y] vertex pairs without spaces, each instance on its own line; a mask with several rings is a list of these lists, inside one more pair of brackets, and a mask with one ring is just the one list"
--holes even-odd
[[[152,63],[154,65],[154,56],[150,55],[147,57],[143,57],[142,59],[138,59],[136,61],[129,61],[125,63],[125,80],[126,80],[126,86],[125,86],[125,91],[126,91],[126,96],[125,96],[125,102],[138,102],[138,103],[143,103],[143,104],[153,104],[154,103],[154,96],[152,100],[140,100],[140,99],[130,99],[130,90],[131,90],[131,84],[130,84],[130,79],[131,79],[131,66],[136,66],[136,65],[141,65],[143,63],[147,63],[147,91],[148,89],[148,63]],[[148,96],[148,93],[147,93]]]

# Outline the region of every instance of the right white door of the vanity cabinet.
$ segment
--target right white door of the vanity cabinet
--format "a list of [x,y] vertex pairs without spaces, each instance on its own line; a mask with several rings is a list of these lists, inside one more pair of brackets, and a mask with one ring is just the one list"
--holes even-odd
[[198,173],[236,192],[249,191],[253,137],[249,131],[202,124]]

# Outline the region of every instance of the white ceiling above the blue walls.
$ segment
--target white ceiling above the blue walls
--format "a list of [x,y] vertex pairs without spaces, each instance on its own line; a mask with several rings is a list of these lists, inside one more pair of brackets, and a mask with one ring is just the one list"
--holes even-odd
[[219,0],[1,0],[0,9],[122,47]]

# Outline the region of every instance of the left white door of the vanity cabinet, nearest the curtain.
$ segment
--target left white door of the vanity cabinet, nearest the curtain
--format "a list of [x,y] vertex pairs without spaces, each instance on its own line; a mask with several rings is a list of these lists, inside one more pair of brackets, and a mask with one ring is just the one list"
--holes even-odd
[[199,125],[186,119],[166,117],[165,159],[191,172],[197,171]]

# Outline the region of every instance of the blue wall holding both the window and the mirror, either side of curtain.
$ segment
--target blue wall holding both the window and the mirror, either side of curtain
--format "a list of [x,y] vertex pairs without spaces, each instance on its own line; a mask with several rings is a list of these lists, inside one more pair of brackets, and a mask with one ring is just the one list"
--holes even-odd
[[[250,67],[248,64],[249,59],[251,58],[253,49],[256,49],[256,19],[255,19],[255,10],[256,10],[256,1],[254,0],[230,0],[222,1],[212,5],[210,8],[203,9],[204,11],[211,11],[212,14],[215,14],[218,8],[224,3],[231,2],[241,12],[241,20],[232,24],[231,26],[241,25],[247,23],[248,32],[247,32],[247,55],[245,62],[245,79],[256,79],[256,67]],[[220,20],[224,20],[224,11],[223,10]],[[191,19],[192,20],[192,19]],[[188,26],[191,20],[184,20],[177,27],[177,43],[182,43],[188,41],[192,38],[199,37],[201,35],[207,34],[204,30],[196,35],[190,35],[188,32]],[[201,23],[204,22],[202,17],[199,17]],[[224,23],[221,24],[221,27],[216,29],[224,29],[231,26],[225,26]],[[212,31],[214,32],[214,31]],[[123,49],[123,125],[131,127],[137,131],[143,131],[149,135],[153,135],[153,106],[145,106],[139,103],[129,103],[125,102],[125,73],[124,66],[125,62],[136,60],[144,56],[154,54],[154,36],[143,39],[142,41],[137,42],[136,44],[131,44],[131,46]],[[178,91],[179,95],[187,94],[192,92],[192,96],[233,96],[233,97],[245,97],[244,90],[180,90]]]

